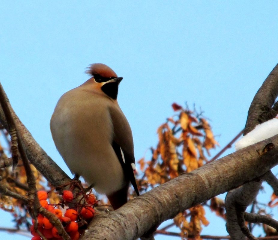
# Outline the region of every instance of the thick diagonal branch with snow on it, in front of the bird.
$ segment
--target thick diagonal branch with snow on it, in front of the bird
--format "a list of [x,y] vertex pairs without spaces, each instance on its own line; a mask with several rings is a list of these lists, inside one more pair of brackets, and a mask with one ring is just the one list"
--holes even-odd
[[[260,154],[269,143],[274,148]],[[166,182],[114,212],[97,214],[81,239],[137,239],[179,212],[257,179],[277,157],[276,135]]]

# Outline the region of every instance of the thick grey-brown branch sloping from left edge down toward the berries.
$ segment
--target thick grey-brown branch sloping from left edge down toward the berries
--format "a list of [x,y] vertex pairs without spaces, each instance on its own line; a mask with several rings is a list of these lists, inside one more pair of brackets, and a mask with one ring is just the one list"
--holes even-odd
[[[0,87],[2,87],[0,83]],[[13,108],[10,106],[10,102],[5,94],[4,101],[7,102],[7,106],[11,112],[11,116],[14,120],[17,133],[22,140],[22,146],[29,161],[39,170],[43,176],[55,187],[61,186],[70,178],[64,173],[63,170],[46,154],[46,152],[40,147],[34,140],[30,132],[22,124],[19,118],[16,116]],[[0,108],[0,122],[4,128],[8,129],[7,120],[5,118],[3,109]]]

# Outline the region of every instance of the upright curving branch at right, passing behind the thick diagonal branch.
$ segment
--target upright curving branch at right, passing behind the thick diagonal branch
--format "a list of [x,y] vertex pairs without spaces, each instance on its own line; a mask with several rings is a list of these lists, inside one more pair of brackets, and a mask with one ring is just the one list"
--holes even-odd
[[[271,107],[278,95],[278,64],[274,67],[268,77],[265,79],[262,86],[256,93],[249,111],[247,122],[244,129],[244,135],[253,130],[258,124],[267,121],[277,114],[277,106],[275,109]],[[239,220],[237,218],[238,211],[245,211],[247,206],[251,204],[258,194],[258,189],[261,187],[262,181],[248,183],[243,188],[233,190],[232,194],[227,194],[225,200],[226,216],[227,216],[227,230],[233,240],[243,240],[250,236],[248,231],[244,230],[244,218]],[[238,215],[239,216],[239,215]]]

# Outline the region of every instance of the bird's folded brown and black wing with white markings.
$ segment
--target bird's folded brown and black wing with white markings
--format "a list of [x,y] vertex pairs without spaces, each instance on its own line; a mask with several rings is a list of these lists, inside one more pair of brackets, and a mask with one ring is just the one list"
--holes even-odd
[[135,159],[130,125],[120,108],[110,108],[109,112],[114,128],[112,147],[123,167],[125,176],[130,180],[136,194],[139,196],[134,176]]

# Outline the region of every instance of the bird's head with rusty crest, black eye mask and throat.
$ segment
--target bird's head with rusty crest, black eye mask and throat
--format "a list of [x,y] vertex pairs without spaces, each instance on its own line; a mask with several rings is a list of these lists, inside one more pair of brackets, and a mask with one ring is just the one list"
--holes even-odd
[[118,96],[118,86],[122,77],[117,74],[108,66],[102,63],[91,64],[86,73],[92,75],[93,86],[97,90],[101,90],[110,98],[116,100]]

